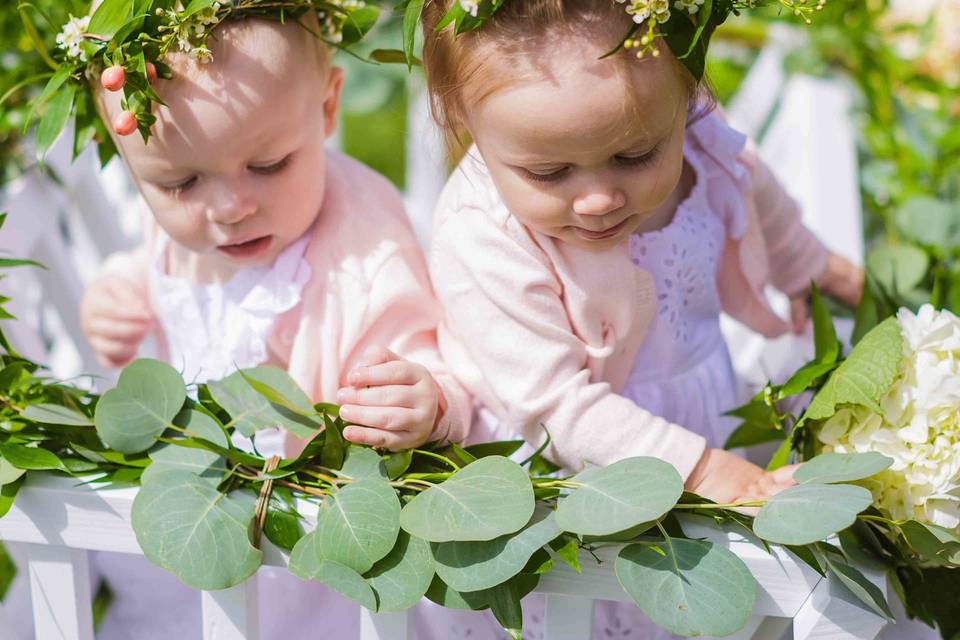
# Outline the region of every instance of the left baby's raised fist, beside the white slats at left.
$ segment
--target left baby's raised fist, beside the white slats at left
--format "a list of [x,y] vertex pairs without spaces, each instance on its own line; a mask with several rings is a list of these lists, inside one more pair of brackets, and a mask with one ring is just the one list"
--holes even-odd
[[133,360],[152,326],[144,293],[126,278],[102,276],[83,294],[80,327],[105,367],[122,367]]

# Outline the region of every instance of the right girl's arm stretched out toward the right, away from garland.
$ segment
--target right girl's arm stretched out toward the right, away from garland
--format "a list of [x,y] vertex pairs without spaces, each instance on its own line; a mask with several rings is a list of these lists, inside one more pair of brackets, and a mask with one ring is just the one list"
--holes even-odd
[[[806,321],[810,282],[848,306],[860,302],[863,269],[832,253],[803,226],[800,207],[753,151],[753,188],[774,286],[791,298],[794,327]],[[798,326],[799,325],[799,326]]]

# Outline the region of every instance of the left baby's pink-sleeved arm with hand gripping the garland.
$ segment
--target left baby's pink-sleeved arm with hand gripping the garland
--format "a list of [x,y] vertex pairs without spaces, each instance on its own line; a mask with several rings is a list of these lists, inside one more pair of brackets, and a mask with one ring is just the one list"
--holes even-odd
[[364,317],[348,347],[337,402],[341,416],[358,426],[344,437],[394,450],[459,442],[467,436],[472,404],[437,349],[439,305],[423,253],[399,198],[385,199],[404,224],[377,230],[387,237],[382,246],[391,248],[369,276]]

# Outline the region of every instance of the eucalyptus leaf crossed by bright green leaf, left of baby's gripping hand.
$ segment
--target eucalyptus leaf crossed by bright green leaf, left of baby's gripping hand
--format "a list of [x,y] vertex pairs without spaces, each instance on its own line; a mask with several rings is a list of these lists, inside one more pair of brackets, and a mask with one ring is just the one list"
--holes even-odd
[[268,385],[286,399],[298,411],[312,413],[313,405],[293,378],[278,367],[263,366],[234,372],[207,384],[214,402],[230,414],[237,431],[248,438],[262,429],[281,427],[300,437],[313,436],[322,424],[291,411],[281,404],[271,402],[250,386],[244,376]]

